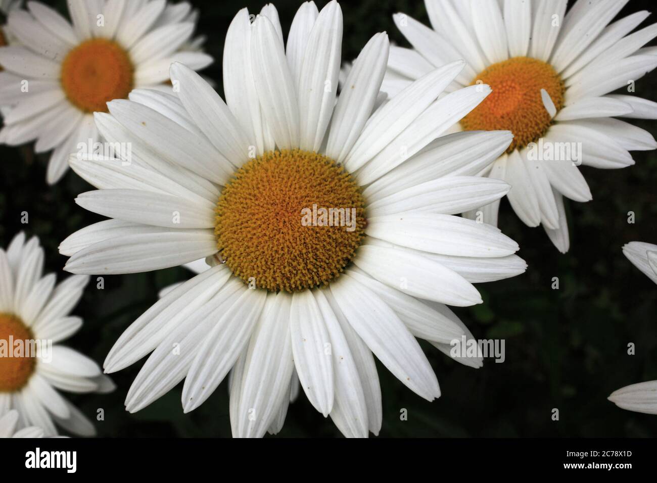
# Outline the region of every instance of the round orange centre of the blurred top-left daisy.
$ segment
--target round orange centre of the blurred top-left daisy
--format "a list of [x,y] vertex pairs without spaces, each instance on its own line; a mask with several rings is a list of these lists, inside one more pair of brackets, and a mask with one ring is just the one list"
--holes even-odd
[[62,62],[62,88],[83,112],[107,112],[108,101],[126,99],[134,84],[134,66],[118,43],[84,41]]

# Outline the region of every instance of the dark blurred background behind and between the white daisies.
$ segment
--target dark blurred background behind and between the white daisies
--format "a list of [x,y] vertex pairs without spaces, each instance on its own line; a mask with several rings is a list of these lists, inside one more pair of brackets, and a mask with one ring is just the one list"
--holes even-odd
[[[198,33],[207,35],[206,51],[215,58],[205,74],[221,89],[223,39],[233,16],[242,7],[259,12],[261,1],[218,2],[191,0],[201,11]],[[66,12],[64,1],[47,1]],[[277,1],[284,32],[300,1]],[[317,2],[323,7],[325,0]],[[653,1],[631,0],[622,16],[650,10]],[[343,59],[357,56],[371,35],[386,30],[399,45],[392,14],[405,12],[428,24],[421,1],[342,1]],[[657,101],[657,72],[637,81],[636,93]],[[632,121],[657,136],[657,121]],[[657,379],[657,287],[623,256],[630,241],[657,243],[657,152],[633,152],[636,166],[623,170],[582,168],[593,201],[568,202],[571,248],[561,255],[542,228],[524,226],[503,202],[500,227],[520,243],[520,256],[530,268],[520,277],[480,284],[485,304],[456,310],[476,338],[504,338],[505,363],[487,359],[482,369],[451,361],[429,344],[424,350],[438,375],[442,397],[428,403],[378,365],[383,393],[385,437],[601,437],[657,436],[657,416],[619,409],[606,400],[614,390]],[[57,246],[74,231],[101,217],[74,203],[89,191],[73,172],[54,187],[45,183],[45,156],[35,156],[32,145],[0,147],[0,246],[18,231],[38,235],[46,251],[47,271],[59,280],[66,258]],[[20,223],[21,212],[30,223]],[[627,212],[636,223],[627,223]],[[104,290],[90,283],[74,315],[84,318],[83,329],[66,344],[102,365],[120,334],[157,300],[160,288],[182,281],[182,268],[155,273],[105,277]],[[560,289],[551,288],[553,277]],[[636,354],[627,354],[627,344]],[[117,390],[108,395],[67,397],[94,418],[97,408],[105,420],[97,422],[99,436],[215,437],[230,436],[225,383],[199,409],[184,415],[179,384],[146,409],[131,415],[124,398],[143,361],[113,374]],[[407,421],[400,420],[407,409]],[[551,419],[558,408],[559,421]],[[304,395],[290,405],[280,436],[340,436]]]

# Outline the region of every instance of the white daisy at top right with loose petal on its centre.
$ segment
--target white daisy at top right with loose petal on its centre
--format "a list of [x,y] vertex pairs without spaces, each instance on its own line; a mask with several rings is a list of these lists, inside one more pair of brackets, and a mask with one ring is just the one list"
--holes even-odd
[[[530,227],[543,225],[560,252],[570,247],[564,196],[592,199],[579,164],[634,164],[631,150],[657,147],[652,135],[616,118],[657,118],[657,104],[634,95],[657,66],[657,24],[630,34],[648,12],[612,24],[628,0],[425,0],[432,28],[406,14],[394,22],[412,49],[391,47],[382,89],[395,95],[453,60],[466,66],[451,89],[486,83],[493,93],[453,128],[508,129],[512,143],[480,175],[504,179],[509,202]],[[625,94],[610,94],[621,87]],[[499,202],[467,216],[497,225]]]

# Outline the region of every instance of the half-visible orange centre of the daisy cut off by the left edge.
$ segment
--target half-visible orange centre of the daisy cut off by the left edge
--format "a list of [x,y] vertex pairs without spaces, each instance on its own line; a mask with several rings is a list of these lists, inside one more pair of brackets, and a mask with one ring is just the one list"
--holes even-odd
[[[30,380],[36,360],[26,356],[26,341],[33,340],[32,331],[15,315],[0,313],[0,393],[16,392]],[[22,349],[18,350],[16,341]],[[20,356],[20,357],[18,357]],[[25,357],[26,356],[26,357]]]

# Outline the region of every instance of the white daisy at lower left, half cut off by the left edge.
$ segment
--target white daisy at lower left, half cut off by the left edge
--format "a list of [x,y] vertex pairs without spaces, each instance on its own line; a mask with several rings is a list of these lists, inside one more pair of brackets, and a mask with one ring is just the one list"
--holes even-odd
[[[7,251],[0,248],[0,416],[12,428],[39,426],[55,436],[55,423],[80,436],[95,429],[57,389],[110,392],[112,381],[89,357],[59,344],[82,326],[68,315],[89,277],[74,275],[55,285],[55,274],[43,275],[43,249],[37,237],[19,233]],[[11,424],[10,424],[11,423]],[[1,426],[1,425],[0,425]]]

